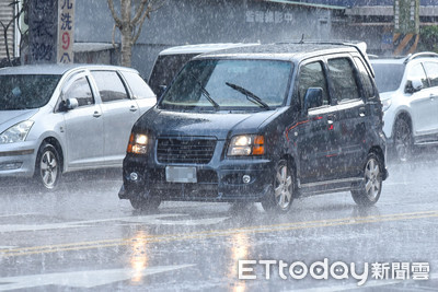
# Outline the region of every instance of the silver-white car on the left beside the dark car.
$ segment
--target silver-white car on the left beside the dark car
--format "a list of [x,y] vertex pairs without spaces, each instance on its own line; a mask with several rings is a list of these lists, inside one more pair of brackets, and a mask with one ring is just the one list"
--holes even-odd
[[0,177],[122,167],[134,122],[157,103],[129,68],[23,66],[0,70]]

